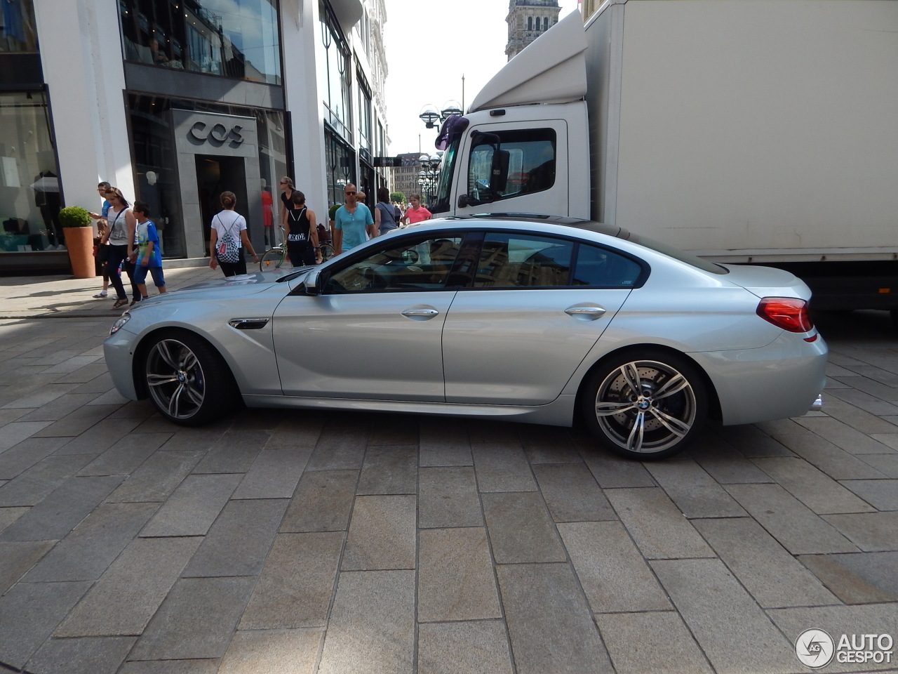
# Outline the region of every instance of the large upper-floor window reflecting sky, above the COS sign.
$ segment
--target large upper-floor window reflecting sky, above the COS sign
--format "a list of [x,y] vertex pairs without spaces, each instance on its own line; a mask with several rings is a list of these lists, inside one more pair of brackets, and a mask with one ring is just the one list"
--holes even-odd
[[119,11],[128,61],[281,84],[275,0],[119,0]]

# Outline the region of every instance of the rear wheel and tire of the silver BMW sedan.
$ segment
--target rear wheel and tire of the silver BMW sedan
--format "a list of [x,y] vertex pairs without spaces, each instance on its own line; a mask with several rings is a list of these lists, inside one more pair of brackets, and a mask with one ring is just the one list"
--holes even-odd
[[700,432],[708,419],[708,389],[682,356],[629,351],[593,370],[581,405],[586,426],[604,447],[652,461],[681,452]]

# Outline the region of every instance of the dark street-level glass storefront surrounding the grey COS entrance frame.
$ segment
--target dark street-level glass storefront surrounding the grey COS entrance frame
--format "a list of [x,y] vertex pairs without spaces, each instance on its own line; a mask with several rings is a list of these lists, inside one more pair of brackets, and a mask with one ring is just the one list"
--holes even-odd
[[[159,228],[163,256],[188,256],[188,236],[196,232],[197,228],[207,234],[206,221],[210,219],[212,212],[218,210],[214,199],[216,195],[225,189],[240,193],[237,185],[232,182],[240,182],[237,173],[242,169],[242,164],[235,164],[234,157],[229,163],[223,157],[203,156],[198,162],[202,170],[197,174],[197,184],[184,184],[187,178],[180,176],[178,172],[178,148],[173,131],[175,124],[172,111],[254,118],[258,137],[258,189],[263,205],[261,208],[265,208],[265,205],[270,208],[272,202],[277,205],[277,182],[280,176],[286,175],[288,165],[284,112],[134,93],[128,95],[128,108],[137,192],[140,199],[150,205],[152,219]],[[222,184],[218,185],[218,182]],[[189,194],[188,191],[193,193]],[[209,194],[205,194],[206,191]],[[248,203],[248,196],[243,197],[241,208]],[[203,214],[201,221],[185,222],[182,204],[185,200],[195,202],[197,197]],[[270,219],[269,216],[260,214],[257,221],[268,224]]]

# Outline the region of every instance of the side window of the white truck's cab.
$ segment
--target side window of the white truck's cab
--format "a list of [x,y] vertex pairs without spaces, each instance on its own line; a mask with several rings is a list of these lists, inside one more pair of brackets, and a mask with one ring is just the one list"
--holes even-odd
[[554,129],[506,130],[472,137],[468,163],[472,204],[532,194],[555,184]]

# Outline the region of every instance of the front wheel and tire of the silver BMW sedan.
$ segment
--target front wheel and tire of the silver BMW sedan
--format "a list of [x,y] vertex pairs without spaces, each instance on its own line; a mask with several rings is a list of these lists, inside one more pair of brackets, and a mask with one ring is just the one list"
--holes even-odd
[[182,426],[200,426],[223,417],[237,400],[237,387],[225,361],[193,334],[154,337],[146,350],[143,376],[156,409]]

